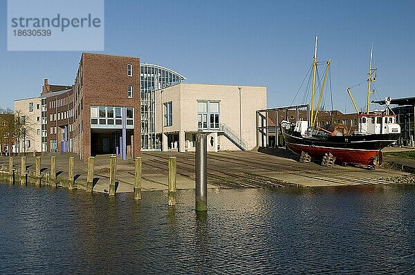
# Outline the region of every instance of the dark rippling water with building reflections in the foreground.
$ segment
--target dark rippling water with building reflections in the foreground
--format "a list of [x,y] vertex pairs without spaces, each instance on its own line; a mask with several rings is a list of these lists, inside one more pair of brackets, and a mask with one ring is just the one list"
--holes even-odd
[[1,272],[411,273],[415,189],[361,186],[89,194],[0,184]]

